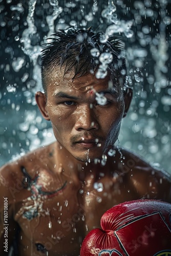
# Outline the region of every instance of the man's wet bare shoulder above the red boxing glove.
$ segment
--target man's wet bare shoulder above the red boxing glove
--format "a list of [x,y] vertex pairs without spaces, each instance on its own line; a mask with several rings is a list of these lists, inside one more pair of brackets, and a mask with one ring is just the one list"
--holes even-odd
[[171,203],[171,176],[165,170],[153,167],[140,156],[121,150],[120,170],[142,198]]

